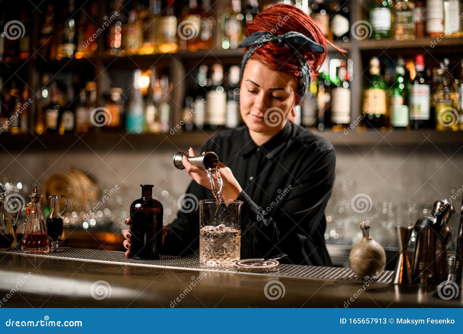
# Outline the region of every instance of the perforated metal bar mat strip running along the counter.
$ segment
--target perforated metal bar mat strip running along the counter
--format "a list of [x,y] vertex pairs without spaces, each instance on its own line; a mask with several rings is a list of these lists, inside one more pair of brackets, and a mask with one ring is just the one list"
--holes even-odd
[[[209,270],[209,271],[223,271],[228,273],[240,273],[234,267],[208,267],[200,265],[197,257],[177,257],[171,255],[162,255],[161,260],[139,260],[127,259],[124,252],[96,250],[96,249],[81,249],[81,248],[68,248],[60,247],[58,251],[50,254],[23,254],[20,249],[13,248],[9,251],[0,251],[0,253],[14,253],[25,256],[41,256],[50,258],[63,258],[77,261],[100,262],[121,264],[130,266],[143,266],[143,267],[168,267],[168,268],[182,268],[189,270]],[[250,274],[250,273],[244,273]],[[272,273],[252,273],[253,275],[273,275],[273,276],[294,276],[294,277],[307,277],[316,279],[340,279],[359,281],[355,273],[349,268],[336,268],[336,267],[317,267],[317,266],[300,266],[292,264],[281,264],[278,271]],[[392,281],[393,271],[383,271],[381,275],[375,279],[377,283],[390,283]]]

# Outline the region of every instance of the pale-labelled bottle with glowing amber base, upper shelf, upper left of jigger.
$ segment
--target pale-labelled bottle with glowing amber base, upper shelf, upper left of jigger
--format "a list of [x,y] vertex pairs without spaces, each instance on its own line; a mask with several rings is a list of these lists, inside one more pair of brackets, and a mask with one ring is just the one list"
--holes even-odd
[[174,14],[175,0],[165,0],[164,16],[160,19],[158,51],[161,53],[178,52],[177,18]]

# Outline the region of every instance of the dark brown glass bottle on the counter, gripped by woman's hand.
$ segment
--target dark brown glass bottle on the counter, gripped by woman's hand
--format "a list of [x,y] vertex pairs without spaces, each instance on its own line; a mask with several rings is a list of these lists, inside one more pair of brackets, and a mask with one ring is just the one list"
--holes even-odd
[[159,259],[163,245],[163,206],[151,197],[152,184],[140,184],[142,197],[130,206],[131,253],[142,259]]

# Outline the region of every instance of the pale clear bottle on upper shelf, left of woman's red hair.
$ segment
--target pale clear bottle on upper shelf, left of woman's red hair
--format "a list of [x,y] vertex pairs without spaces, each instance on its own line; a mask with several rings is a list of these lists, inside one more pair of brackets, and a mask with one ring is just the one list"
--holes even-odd
[[232,0],[232,9],[222,15],[222,48],[237,49],[243,39],[243,19],[241,0]]

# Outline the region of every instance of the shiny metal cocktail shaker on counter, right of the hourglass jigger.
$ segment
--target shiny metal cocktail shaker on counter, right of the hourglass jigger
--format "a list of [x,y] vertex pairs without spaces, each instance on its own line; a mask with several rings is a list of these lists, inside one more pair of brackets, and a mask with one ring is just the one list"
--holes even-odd
[[433,285],[447,280],[447,247],[451,238],[448,222],[455,213],[447,200],[434,203],[431,216],[417,220],[413,231],[416,245],[413,253],[412,282]]

